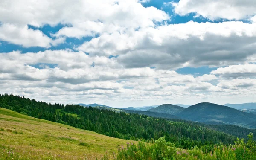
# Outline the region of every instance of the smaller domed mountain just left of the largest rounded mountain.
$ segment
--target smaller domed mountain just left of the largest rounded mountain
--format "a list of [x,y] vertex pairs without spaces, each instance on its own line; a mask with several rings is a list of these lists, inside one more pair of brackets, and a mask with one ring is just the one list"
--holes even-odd
[[177,115],[181,111],[183,111],[185,108],[177,106],[177,105],[171,105],[171,104],[164,104],[160,105],[156,108],[152,108],[148,111],[150,112],[157,112],[157,113],[167,113],[172,115]]

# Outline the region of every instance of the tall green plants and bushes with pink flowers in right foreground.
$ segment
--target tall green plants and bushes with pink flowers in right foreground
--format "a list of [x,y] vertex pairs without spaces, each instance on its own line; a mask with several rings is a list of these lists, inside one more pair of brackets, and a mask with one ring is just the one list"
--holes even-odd
[[256,160],[256,142],[253,135],[237,139],[235,145],[215,145],[211,151],[194,147],[191,150],[177,149],[174,143],[166,142],[162,137],[153,144],[139,142],[128,143],[126,148],[119,148],[113,156],[105,156],[104,160]]

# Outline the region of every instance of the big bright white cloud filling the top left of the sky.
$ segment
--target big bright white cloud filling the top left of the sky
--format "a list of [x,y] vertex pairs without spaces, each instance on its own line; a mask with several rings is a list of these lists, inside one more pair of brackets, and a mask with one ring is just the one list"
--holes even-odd
[[[169,15],[154,7],[143,7],[137,0],[2,0],[0,22],[25,26],[68,24],[53,36],[82,38],[102,33],[127,32],[155,26]],[[15,11],[15,12],[14,12]],[[72,11],[72,12],[70,12]]]

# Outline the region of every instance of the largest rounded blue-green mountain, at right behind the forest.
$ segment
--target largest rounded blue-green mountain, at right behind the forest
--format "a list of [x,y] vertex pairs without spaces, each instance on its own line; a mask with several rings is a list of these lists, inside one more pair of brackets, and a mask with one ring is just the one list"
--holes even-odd
[[198,103],[177,114],[180,118],[196,122],[218,122],[246,126],[256,121],[256,115],[213,103]]

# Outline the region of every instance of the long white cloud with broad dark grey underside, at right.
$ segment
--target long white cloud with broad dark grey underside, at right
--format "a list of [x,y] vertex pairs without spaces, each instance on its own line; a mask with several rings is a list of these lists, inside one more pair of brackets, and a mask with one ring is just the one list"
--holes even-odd
[[125,67],[219,67],[255,55],[255,40],[256,23],[190,21],[104,34],[77,49],[92,55],[120,55],[117,61]]

